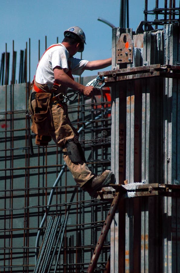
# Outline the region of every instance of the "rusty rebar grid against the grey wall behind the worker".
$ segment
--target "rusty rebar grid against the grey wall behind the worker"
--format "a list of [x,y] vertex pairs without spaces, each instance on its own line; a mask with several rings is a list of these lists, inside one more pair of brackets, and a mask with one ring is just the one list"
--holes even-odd
[[[30,93],[30,39],[26,43],[23,58],[21,52],[19,81],[16,79],[17,55],[14,47],[13,41],[11,84],[8,85],[10,55],[7,54],[7,45],[4,54],[5,79],[0,79],[3,85],[0,93],[5,98],[0,105],[0,269],[1,272],[11,273],[34,271],[36,236],[40,230],[40,249],[49,220],[49,207],[49,213],[54,216],[68,212],[62,248],[58,258],[59,244],[56,246],[50,272],[54,272],[56,262],[57,272],[85,272],[110,203],[91,200],[86,192],[76,186],[65,167],[64,174],[54,189],[52,204],[47,205],[53,183],[63,168],[64,161],[61,150],[53,142],[47,147],[38,147],[34,144],[32,133],[29,134],[31,123],[26,113]],[[38,50],[40,57],[40,46]],[[83,78],[79,80],[83,83]],[[96,96],[94,101],[79,96],[68,107],[73,125],[77,129],[81,128],[80,142],[85,150],[88,166],[97,173],[110,169],[111,117],[110,112],[107,112],[110,101],[103,93]],[[70,200],[72,193],[74,198]],[[44,226],[39,228],[45,213],[47,217]],[[109,241],[110,238],[107,238],[97,272],[104,271],[110,252]],[[47,250],[47,256],[53,251],[54,246]],[[47,266],[47,260],[44,265]]]

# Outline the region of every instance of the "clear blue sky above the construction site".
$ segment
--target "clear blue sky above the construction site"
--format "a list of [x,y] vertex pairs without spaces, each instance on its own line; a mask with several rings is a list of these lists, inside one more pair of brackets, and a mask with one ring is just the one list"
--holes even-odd
[[[161,2],[164,3],[159,1]],[[155,0],[149,3],[148,9],[155,6]],[[47,46],[56,43],[57,37],[61,42],[64,30],[70,26],[80,26],[85,32],[87,45],[85,45],[83,59],[111,57],[112,29],[97,21],[97,18],[106,19],[118,27],[120,0],[0,0],[0,5],[0,54],[5,52],[5,43],[7,43],[7,51],[11,54],[14,40],[14,48],[18,52],[17,63],[19,63],[20,49],[25,49],[26,42],[29,46],[30,38],[31,78],[34,76],[38,62],[38,40],[40,40],[40,55],[42,55],[45,50],[45,36],[47,36]],[[129,0],[129,27],[133,28],[133,31],[144,19],[143,9],[144,0]],[[80,58],[80,53],[77,53],[75,57]],[[83,76],[96,74],[97,71],[85,71]]]

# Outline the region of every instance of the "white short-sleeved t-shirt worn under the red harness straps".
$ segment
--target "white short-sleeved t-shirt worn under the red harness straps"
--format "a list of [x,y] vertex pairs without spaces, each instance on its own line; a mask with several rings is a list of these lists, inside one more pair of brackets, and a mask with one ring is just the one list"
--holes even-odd
[[80,76],[87,63],[87,60],[69,57],[69,52],[65,46],[59,43],[48,49],[41,57],[36,70],[35,80],[37,83],[47,83],[51,89],[54,84],[54,67],[60,66],[65,69],[65,72],[71,69],[72,75]]

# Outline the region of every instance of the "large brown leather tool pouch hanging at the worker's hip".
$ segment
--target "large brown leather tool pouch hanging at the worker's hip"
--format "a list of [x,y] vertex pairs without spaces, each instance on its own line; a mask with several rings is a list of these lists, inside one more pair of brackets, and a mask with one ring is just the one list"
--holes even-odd
[[35,95],[36,104],[31,130],[37,135],[47,136],[49,131],[54,131],[50,99],[50,93],[36,93]]

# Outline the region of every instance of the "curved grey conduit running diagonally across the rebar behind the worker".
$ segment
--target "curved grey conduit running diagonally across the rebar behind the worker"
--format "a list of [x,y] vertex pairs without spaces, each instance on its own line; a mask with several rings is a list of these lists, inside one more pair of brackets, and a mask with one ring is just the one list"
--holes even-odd
[[[108,110],[106,110],[106,111],[103,113],[103,115],[107,115],[107,114],[109,114],[110,112],[111,112],[111,109],[108,109]],[[96,117],[95,117],[95,120],[100,119],[101,116],[102,116],[102,114],[96,116]],[[89,125],[91,122],[92,122],[92,120],[87,121],[87,122],[85,123],[85,127],[86,127],[87,125]],[[82,130],[83,130],[83,126],[78,130],[78,133],[80,133]],[[38,234],[37,234],[37,237],[36,237],[36,244],[35,244],[35,265],[36,265],[37,256],[38,256],[38,245],[39,245],[39,238],[40,238],[40,234],[41,234],[41,228],[44,226],[44,222],[45,222],[45,220],[46,220],[46,217],[47,217],[48,212],[49,212],[49,209],[50,209],[50,205],[51,205],[51,202],[52,202],[52,198],[53,198],[53,194],[54,194],[55,188],[56,188],[56,186],[57,186],[59,180],[61,179],[61,176],[63,175],[65,168],[66,168],[66,163],[64,163],[64,165],[63,165],[63,167],[62,167],[62,169],[61,169],[61,171],[60,171],[60,173],[59,173],[57,179],[56,179],[55,182],[54,182],[54,185],[53,185],[53,187],[52,187],[52,189],[51,189],[51,193],[50,193],[49,200],[48,200],[48,203],[47,203],[46,212],[45,212],[44,217],[43,217],[43,219],[42,219],[42,221],[41,221],[41,224],[40,224],[40,226],[39,226]]]

